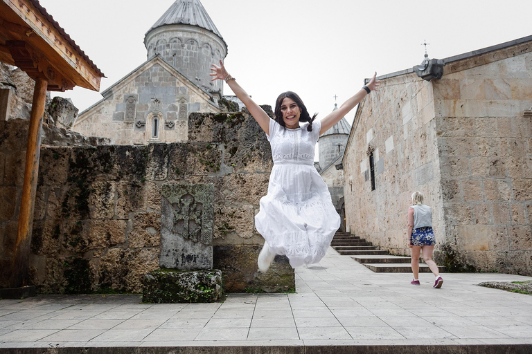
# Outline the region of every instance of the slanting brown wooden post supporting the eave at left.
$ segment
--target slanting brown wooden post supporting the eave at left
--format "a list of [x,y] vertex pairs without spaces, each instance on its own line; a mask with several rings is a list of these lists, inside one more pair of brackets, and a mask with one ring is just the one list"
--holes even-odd
[[22,197],[20,201],[19,228],[11,268],[11,288],[20,288],[21,286],[28,285],[33,210],[35,209],[35,194],[37,192],[41,129],[47,88],[48,81],[37,78],[35,81],[35,90],[33,91],[33,104],[31,106],[30,129],[28,131],[28,145],[26,147],[26,169],[24,170],[24,184],[22,185]]

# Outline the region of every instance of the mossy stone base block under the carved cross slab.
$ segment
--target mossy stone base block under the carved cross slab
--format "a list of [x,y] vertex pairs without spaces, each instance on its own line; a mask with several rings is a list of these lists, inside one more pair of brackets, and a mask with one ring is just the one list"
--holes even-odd
[[155,270],[144,276],[142,302],[208,303],[222,297],[220,270]]

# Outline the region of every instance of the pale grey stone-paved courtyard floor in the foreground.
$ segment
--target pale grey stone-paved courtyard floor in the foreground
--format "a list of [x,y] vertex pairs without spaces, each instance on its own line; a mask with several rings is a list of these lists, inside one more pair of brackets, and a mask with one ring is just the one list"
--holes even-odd
[[411,274],[375,273],[329,248],[319,264],[296,270],[295,294],[231,294],[215,304],[141,304],[140,295],[0,300],[0,353],[532,352],[532,296],[477,286],[532,277],[443,278],[441,289],[426,273],[411,286]]

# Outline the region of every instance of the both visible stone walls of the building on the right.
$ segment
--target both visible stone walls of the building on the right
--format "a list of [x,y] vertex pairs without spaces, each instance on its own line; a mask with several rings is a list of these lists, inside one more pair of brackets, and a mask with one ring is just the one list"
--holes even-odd
[[443,60],[441,80],[386,75],[360,104],[343,160],[347,225],[409,254],[419,190],[449,270],[531,275],[532,39]]

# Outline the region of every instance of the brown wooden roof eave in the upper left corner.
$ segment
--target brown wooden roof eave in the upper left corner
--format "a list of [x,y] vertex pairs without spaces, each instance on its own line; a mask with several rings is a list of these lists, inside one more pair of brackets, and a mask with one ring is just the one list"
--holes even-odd
[[48,91],[100,91],[105,77],[37,0],[0,0],[0,61],[46,79]]

